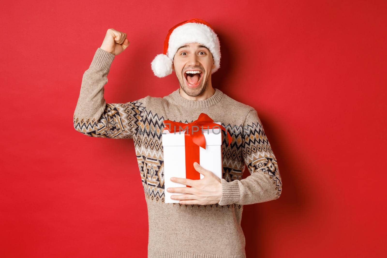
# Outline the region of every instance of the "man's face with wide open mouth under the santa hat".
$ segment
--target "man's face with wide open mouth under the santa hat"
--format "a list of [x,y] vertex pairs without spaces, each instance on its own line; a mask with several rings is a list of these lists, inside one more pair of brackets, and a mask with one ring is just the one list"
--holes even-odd
[[173,70],[188,96],[199,96],[205,92],[211,85],[211,69],[214,67],[211,52],[198,43],[185,44],[173,57]]

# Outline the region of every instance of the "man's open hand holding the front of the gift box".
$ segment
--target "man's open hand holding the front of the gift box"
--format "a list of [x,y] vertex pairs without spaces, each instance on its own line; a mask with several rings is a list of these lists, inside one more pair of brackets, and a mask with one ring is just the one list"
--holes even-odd
[[180,200],[180,204],[207,205],[218,203],[222,197],[222,183],[220,178],[211,171],[204,169],[199,163],[194,162],[197,172],[204,178],[192,180],[187,178],[171,178],[172,182],[191,187],[169,187],[170,193],[185,193],[183,195],[171,195],[172,200]]

